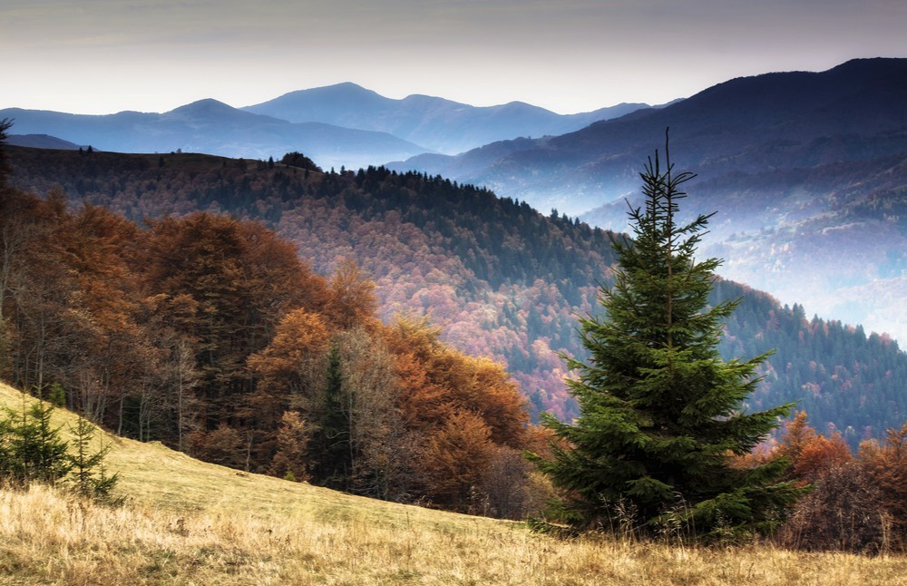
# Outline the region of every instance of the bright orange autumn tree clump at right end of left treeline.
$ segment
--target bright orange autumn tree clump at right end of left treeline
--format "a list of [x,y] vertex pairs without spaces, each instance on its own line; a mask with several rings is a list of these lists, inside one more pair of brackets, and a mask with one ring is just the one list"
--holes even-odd
[[510,376],[446,346],[425,317],[398,317],[384,336],[419,490],[446,508],[519,517],[535,486],[522,459],[533,434]]

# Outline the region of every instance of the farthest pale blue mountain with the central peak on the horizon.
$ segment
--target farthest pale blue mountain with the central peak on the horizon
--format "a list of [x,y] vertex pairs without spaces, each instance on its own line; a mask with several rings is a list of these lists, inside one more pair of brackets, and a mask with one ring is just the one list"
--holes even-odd
[[645,107],[621,103],[563,115],[522,102],[477,107],[419,94],[394,100],[356,83],[338,83],[286,93],[243,110],[288,122],[327,122],[387,132],[433,151],[456,154],[489,142],[573,132]]

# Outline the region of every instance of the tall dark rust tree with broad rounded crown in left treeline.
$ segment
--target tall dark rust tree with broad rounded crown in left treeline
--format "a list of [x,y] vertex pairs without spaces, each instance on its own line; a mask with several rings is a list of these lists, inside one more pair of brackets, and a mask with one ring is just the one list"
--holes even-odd
[[149,294],[197,304],[179,333],[193,339],[202,425],[235,426],[254,390],[249,356],[267,347],[288,312],[322,307],[324,280],[260,224],[205,213],[152,221],[145,255]]

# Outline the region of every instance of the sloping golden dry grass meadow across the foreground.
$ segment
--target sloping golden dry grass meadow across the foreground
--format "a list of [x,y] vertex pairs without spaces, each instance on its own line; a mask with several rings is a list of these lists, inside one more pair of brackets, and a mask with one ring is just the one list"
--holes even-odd
[[[0,385],[3,404],[21,407],[21,394]],[[907,585],[902,556],[561,541],[104,441],[120,508],[0,489],[0,584]]]

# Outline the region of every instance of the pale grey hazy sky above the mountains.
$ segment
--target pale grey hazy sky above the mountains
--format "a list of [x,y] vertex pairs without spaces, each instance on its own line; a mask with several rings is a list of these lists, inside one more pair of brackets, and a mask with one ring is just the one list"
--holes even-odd
[[351,81],[555,112],[907,57],[904,0],[0,0],[0,108],[164,112]]

